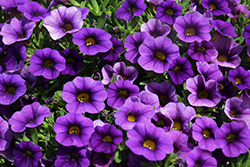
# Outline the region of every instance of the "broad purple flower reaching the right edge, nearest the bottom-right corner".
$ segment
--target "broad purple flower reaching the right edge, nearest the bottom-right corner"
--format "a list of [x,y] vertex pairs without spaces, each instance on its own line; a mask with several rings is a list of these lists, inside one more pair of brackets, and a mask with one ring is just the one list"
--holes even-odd
[[223,123],[214,137],[216,145],[227,157],[238,157],[250,148],[250,130],[243,122]]

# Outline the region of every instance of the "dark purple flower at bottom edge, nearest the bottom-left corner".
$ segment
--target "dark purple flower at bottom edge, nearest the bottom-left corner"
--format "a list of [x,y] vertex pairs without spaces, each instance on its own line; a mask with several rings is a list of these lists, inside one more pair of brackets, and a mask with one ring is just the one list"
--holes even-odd
[[32,143],[32,141],[21,141],[16,144],[13,150],[15,157],[15,166],[26,167],[26,166],[39,166],[39,160],[42,158],[43,153],[38,145]]

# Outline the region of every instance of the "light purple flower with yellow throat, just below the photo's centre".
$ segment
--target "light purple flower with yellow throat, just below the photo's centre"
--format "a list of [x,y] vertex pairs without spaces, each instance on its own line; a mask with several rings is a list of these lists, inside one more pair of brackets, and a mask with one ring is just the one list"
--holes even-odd
[[141,102],[125,102],[115,113],[115,124],[124,130],[132,129],[137,123],[150,123],[155,111],[153,106]]

